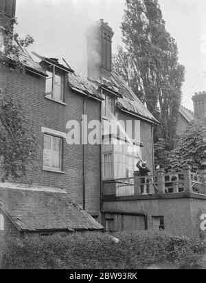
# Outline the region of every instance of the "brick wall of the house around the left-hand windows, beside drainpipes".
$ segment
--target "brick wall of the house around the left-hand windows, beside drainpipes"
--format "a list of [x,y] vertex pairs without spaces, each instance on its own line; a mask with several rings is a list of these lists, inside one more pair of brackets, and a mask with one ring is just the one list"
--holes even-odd
[[[0,69],[0,88],[6,88],[16,99],[25,105],[25,113],[36,133],[37,153],[34,167],[27,170],[27,182],[32,185],[43,185],[54,188],[65,188],[70,198],[83,205],[83,146],[68,145],[63,140],[62,170],[65,174],[43,171],[43,133],[45,126],[56,131],[66,131],[69,120],[81,122],[84,97],[74,93],[67,84],[65,103],[45,98],[45,78],[28,73]],[[88,99],[87,113],[89,120],[100,120],[100,102]],[[97,214],[100,210],[100,146],[87,146],[86,166],[86,210]],[[95,213],[94,213],[95,212]]]

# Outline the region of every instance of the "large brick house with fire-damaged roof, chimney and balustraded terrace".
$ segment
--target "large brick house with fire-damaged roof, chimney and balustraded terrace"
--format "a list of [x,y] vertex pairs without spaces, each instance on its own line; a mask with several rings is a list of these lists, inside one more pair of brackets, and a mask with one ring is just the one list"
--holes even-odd
[[[15,1],[0,3],[2,43],[5,23],[15,14]],[[27,180],[0,185],[1,234],[65,234],[102,231],[103,226],[106,231],[196,233],[188,230],[194,229],[191,219],[198,217],[206,196],[202,188],[201,194],[193,192],[191,184],[201,181],[193,175],[192,180],[188,169],[179,188],[181,173],[181,177],[167,177],[167,183],[164,172],[155,172],[153,128],[158,121],[112,70],[112,38],[113,30],[102,19],[87,30],[87,80],[57,58],[36,54],[41,62],[35,63],[21,47],[25,73],[1,65],[0,88],[23,102],[38,144]],[[80,126],[80,133],[70,122]],[[101,128],[95,135],[101,142],[89,144],[91,125],[98,122]],[[113,131],[114,124],[117,131]],[[69,143],[71,131],[79,142]],[[148,161],[149,179],[134,174],[139,158]],[[187,215],[189,229],[181,228],[179,213]]]

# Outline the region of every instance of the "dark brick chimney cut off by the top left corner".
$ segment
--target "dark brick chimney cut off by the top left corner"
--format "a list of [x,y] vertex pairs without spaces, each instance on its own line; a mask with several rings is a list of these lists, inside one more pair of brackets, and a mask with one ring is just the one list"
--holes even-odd
[[0,0],[0,28],[10,27],[10,21],[15,17],[16,0]]

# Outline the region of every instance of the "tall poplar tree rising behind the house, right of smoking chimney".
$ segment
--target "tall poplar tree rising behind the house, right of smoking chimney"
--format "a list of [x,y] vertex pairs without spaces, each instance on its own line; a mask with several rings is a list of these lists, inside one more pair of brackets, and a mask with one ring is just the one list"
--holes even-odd
[[165,150],[171,150],[185,69],[178,63],[174,38],[165,30],[158,0],[126,0],[122,34],[125,48],[118,48],[114,69],[161,122],[155,142],[164,139]]

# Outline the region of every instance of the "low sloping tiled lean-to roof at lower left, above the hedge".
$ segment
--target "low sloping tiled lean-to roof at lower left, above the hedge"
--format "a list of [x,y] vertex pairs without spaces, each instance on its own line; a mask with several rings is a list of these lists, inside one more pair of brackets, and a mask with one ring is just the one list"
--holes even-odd
[[20,231],[103,229],[65,192],[1,187],[0,208]]

